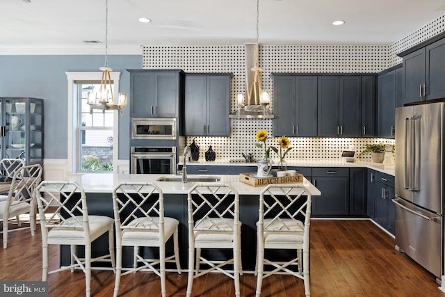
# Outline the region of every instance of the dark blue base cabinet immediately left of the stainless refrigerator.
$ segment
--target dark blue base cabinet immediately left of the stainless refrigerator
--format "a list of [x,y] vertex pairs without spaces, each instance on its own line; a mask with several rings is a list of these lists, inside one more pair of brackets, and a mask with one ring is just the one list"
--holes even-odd
[[374,221],[395,234],[394,176],[375,172]]

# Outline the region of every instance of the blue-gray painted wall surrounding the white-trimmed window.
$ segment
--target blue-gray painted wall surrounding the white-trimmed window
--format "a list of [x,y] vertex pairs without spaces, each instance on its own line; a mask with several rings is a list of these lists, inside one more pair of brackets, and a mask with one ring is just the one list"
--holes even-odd
[[[100,71],[101,55],[0,56],[0,97],[44,99],[44,158],[67,159],[67,95],[65,72]],[[143,67],[142,55],[109,55],[108,66],[120,71],[120,92],[129,93],[126,69]],[[119,117],[119,159],[129,159],[129,110]]]

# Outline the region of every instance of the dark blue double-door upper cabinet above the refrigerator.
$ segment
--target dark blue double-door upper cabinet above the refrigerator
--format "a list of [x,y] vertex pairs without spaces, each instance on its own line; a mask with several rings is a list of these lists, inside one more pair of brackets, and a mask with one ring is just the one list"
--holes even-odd
[[445,38],[443,37],[443,34],[438,35],[398,54],[403,57],[404,104],[445,97]]

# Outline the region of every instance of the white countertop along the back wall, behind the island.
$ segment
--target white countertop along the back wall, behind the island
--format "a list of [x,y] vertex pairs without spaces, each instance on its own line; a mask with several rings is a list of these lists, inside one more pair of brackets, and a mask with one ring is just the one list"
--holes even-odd
[[[354,162],[346,162],[343,160],[286,160],[287,166],[300,166],[300,167],[357,167],[357,168],[371,168],[373,170],[378,170],[383,173],[387,173],[388,175],[395,175],[395,166],[394,165],[385,165],[384,163],[374,163],[374,162],[364,162],[364,161],[354,161]],[[182,163],[180,163],[182,164]],[[272,164],[275,167],[278,167],[278,163]],[[216,160],[216,161],[189,161],[187,162],[187,166],[253,166],[257,167],[257,163],[232,163],[229,160]],[[256,171],[256,170],[254,170]]]

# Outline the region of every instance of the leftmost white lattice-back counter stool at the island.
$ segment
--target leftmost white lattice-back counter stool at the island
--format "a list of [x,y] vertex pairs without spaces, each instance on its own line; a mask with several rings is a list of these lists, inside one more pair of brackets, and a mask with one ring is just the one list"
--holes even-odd
[[[81,268],[85,273],[86,296],[90,296],[91,263],[111,262],[115,270],[114,220],[108,216],[88,214],[85,190],[71,181],[43,181],[36,188],[42,228],[42,281],[48,274]],[[108,232],[109,254],[91,257],[91,243]],[[69,245],[71,262],[48,271],[48,245]],[[78,255],[76,246],[85,247],[85,255]]]

